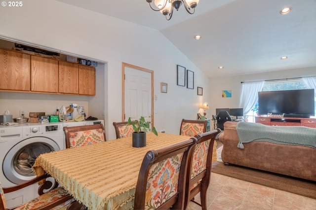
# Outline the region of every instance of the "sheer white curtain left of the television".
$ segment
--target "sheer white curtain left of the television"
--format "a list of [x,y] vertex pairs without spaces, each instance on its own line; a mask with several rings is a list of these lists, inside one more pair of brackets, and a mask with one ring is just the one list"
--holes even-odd
[[248,113],[258,101],[258,92],[262,91],[265,81],[244,82],[240,96],[239,107],[243,108],[243,114]]

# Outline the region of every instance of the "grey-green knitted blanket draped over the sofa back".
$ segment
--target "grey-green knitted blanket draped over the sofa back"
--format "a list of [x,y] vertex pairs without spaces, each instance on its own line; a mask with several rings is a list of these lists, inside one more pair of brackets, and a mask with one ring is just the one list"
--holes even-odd
[[302,145],[316,148],[316,129],[304,126],[268,126],[260,123],[238,122],[236,131],[242,143],[268,141],[278,144]]

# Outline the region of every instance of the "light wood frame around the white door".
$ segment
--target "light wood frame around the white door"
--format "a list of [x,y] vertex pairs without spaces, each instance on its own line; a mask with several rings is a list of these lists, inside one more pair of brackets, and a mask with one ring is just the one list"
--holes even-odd
[[154,127],[154,71],[153,70],[148,70],[142,67],[138,67],[135,65],[127,64],[122,62],[122,122],[125,121],[125,67],[129,67],[135,70],[141,70],[141,71],[146,71],[151,73],[152,75],[152,128]]

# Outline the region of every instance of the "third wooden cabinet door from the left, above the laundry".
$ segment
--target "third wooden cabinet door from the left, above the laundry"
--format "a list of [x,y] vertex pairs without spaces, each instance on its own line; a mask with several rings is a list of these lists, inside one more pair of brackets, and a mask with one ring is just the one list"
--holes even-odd
[[78,64],[59,61],[59,93],[79,93],[79,68]]

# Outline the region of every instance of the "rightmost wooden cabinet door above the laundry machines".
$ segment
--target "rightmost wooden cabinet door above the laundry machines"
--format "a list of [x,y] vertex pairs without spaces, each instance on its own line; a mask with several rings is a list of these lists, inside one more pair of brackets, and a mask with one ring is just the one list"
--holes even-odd
[[95,68],[79,65],[79,94],[95,95]]

